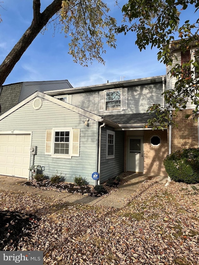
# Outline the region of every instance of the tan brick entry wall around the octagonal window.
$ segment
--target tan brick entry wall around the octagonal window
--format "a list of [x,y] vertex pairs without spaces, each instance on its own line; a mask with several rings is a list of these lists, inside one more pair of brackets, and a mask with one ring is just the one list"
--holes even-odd
[[[150,144],[150,137],[157,135],[161,139],[159,146]],[[168,140],[169,141],[169,140]],[[168,154],[167,130],[144,131],[144,173],[150,175],[167,176],[163,160]]]

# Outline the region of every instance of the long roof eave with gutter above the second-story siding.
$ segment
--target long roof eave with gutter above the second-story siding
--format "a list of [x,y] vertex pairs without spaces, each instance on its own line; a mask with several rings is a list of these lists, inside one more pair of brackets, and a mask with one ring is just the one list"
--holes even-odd
[[44,91],[44,93],[50,96],[56,96],[56,95],[63,95],[63,94],[72,94],[72,93],[77,93],[77,92],[87,92],[87,91],[93,91],[93,90],[103,90],[103,89],[112,89],[112,88],[114,89],[114,88],[129,87],[129,86],[134,86],[134,85],[153,84],[157,82],[162,82],[162,80],[166,81],[166,75],[117,81],[117,82],[111,82],[111,83],[106,83],[106,84],[101,84],[101,85],[77,87],[73,89]]

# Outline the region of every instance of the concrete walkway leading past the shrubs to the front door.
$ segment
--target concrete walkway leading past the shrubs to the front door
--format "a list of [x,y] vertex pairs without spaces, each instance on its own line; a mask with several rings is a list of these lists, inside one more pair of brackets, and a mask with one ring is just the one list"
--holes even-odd
[[[118,190],[103,197],[90,197],[80,194],[72,194],[68,192],[58,192],[54,190],[42,190],[31,186],[21,185],[26,180],[23,178],[1,176],[0,175],[0,191],[13,191],[20,194],[35,194],[41,197],[54,198],[60,202],[89,204],[89,205],[104,205],[114,208],[122,208],[126,205],[126,199],[131,196],[149,176],[140,173],[123,173],[119,176],[127,183],[118,187]],[[166,177],[156,176],[155,180],[166,183]]]

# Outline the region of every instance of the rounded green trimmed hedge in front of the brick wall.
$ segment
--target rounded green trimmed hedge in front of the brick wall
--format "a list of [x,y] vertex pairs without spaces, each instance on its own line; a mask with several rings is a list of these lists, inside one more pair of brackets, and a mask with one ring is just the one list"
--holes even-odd
[[199,183],[199,148],[177,150],[167,155],[163,163],[172,180]]

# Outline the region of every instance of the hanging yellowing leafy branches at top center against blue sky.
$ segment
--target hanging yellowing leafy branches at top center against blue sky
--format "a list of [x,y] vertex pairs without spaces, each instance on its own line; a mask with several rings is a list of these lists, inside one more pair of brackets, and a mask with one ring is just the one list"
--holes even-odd
[[83,66],[93,60],[104,63],[104,40],[109,47],[116,47],[116,20],[108,12],[107,5],[100,0],[62,1],[59,26],[71,38],[69,53],[74,62]]

